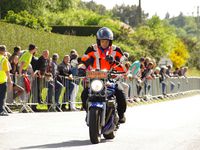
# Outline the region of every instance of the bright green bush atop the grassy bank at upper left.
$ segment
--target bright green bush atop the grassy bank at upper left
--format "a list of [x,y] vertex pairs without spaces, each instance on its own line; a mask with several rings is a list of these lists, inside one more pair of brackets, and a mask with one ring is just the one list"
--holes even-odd
[[35,18],[29,14],[26,10],[16,14],[12,10],[8,11],[8,14],[4,19],[6,22],[27,26],[29,28],[50,31],[46,20],[43,17]]

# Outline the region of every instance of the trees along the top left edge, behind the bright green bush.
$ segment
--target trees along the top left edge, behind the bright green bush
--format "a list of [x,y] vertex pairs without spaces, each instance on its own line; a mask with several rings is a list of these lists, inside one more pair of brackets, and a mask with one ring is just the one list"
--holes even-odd
[[34,16],[42,16],[45,12],[65,11],[69,8],[76,9],[80,0],[1,0],[2,18],[9,10],[15,13],[26,10]]

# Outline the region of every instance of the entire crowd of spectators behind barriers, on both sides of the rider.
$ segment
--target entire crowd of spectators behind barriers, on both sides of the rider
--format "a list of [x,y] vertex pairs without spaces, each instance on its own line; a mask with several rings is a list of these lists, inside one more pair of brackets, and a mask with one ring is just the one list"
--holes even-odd
[[[36,93],[36,103],[47,103],[48,108],[52,103],[56,104],[56,110],[76,111],[75,100],[79,91],[80,80],[74,80],[78,76],[78,65],[81,63],[81,57],[75,49],[72,49],[69,54],[61,58],[62,62],[58,63],[59,54],[54,53],[50,57],[49,50],[43,50],[39,57],[36,57],[37,47],[30,44],[27,50],[21,50],[20,46],[14,47],[13,54],[5,53],[10,62],[10,75],[13,79],[13,99],[24,100],[24,95],[27,93]],[[149,80],[159,78],[162,94],[166,95],[166,79],[173,77],[186,77],[187,67],[176,68],[173,70],[171,64],[160,65],[156,64],[155,59],[142,57],[139,60],[130,62],[129,54],[124,53],[127,58],[125,68],[127,70],[125,80],[120,84],[123,86],[127,100],[130,97],[131,88],[128,81],[136,81],[136,97],[147,95],[151,89],[148,84]],[[20,79],[19,79],[20,77]],[[30,80],[31,77],[31,80]],[[17,80],[19,79],[19,81]],[[174,89],[174,83],[171,82],[171,90]],[[62,91],[65,91],[64,96]],[[144,94],[141,94],[143,90]],[[30,92],[32,90],[32,92]],[[46,96],[45,94],[46,90]],[[34,92],[33,92],[34,91]],[[31,94],[29,95],[29,98]],[[60,103],[62,101],[62,103]],[[66,104],[69,104],[66,107]],[[32,106],[34,111],[38,111],[36,106]]]

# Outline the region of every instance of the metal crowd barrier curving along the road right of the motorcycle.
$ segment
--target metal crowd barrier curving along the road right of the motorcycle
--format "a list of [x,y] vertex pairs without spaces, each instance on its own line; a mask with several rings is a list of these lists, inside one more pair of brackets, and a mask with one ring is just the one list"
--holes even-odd
[[[138,83],[136,80],[127,80],[126,83],[129,84],[130,87],[130,98],[144,97],[146,95],[152,98],[162,97],[163,95],[173,95],[187,91],[200,90],[199,77],[173,77],[167,78],[162,82],[156,77],[153,80],[146,80],[142,83]],[[140,93],[137,93],[137,86],[141,87]]]

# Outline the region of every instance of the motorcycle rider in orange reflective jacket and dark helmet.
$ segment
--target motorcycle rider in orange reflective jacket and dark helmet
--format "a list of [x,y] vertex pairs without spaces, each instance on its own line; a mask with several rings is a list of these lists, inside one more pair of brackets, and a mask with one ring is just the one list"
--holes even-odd
[[[112,44],[113,32],[107,28],[102,27],[97,31],[96,34],[97,44],[91,45],[86,50],[84,56],[82,57],[82,62],[79,72],[86,70],[87,67],[92,67],[92,69],[97,70],[110,70],[115,66],[114,62],[120,62],[124,60],[123,52],[121,49]],[[113,65],[114,64],[114,65]],[[126,111],[126,99],[123,88],[118,86],[115,92],[117,100],[117,111],[119,115],[119,123],[125,122],[124,113]],[[88,99],[88,88],[84,88],[81,99],[83,102],[83,108],[86,109],[86,101]]]

